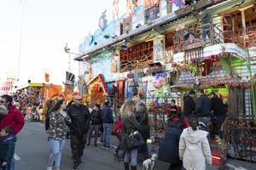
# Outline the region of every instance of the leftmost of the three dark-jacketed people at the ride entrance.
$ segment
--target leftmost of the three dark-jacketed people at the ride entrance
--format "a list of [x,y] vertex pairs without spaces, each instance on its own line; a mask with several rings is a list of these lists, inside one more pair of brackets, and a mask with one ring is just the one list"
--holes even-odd
[[195,91],[190,90],[189,94],[184,97],[184,109],[183,116],[189,116],[195,111],[195,101],[194,101]]

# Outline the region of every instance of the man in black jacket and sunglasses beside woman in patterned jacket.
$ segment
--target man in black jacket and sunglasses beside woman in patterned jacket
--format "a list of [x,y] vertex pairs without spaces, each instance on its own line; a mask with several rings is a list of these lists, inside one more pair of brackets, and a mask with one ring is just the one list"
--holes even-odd
[[90,111],[82,105],[82,97],[74,96],[73,105],[67,109],[72,124],[70,126],[70,146],[73,156],[73,170],[78,169],[82,162],[84,147],[87,139],[87,132],[90,126]]

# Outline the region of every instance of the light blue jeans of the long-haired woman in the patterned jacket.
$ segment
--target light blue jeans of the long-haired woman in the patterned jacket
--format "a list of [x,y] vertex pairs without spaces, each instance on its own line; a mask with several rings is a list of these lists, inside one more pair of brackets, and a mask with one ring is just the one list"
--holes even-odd
[[[51,154],[49,156],[48,167],[59,168],[61,165],[61,150],[63,150],[66,139],[54,140],[49,139]],[[55,163],[55,165],[53,165]]]

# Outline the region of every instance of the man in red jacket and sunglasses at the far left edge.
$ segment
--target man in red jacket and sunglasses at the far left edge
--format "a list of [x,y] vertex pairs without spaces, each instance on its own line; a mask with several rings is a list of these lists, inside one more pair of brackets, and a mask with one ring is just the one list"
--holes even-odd
[[[2,130],[3,127],[11,126],[13,127],[12,133],[16,135],[24,126],[25,121],[20,110],[17,109],[12,102],[13,98],[8,94],[1,96],[0,105],[3,105],[8,109],[8,114],[0,120],[0,130]],[[15,159],[11,161],[10,169],[15,169]]]

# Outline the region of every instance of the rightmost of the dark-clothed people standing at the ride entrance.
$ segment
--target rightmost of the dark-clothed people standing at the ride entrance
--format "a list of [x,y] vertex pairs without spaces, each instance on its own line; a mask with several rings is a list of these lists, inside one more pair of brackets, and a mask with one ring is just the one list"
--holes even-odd
[[222,99],[218,98],[218,95],[214,92],[211,93],[211,109],[213,111],[214,116],[216,116],[218,135],[220,139],[222,139],[223,136],[221,126],[226,117],[226,111]]

